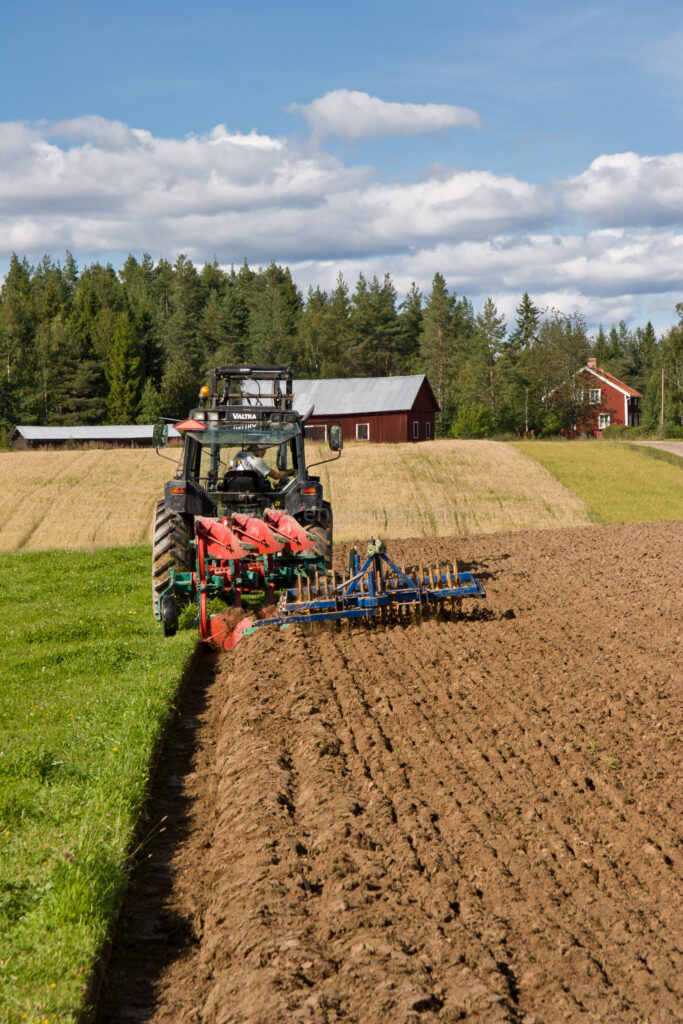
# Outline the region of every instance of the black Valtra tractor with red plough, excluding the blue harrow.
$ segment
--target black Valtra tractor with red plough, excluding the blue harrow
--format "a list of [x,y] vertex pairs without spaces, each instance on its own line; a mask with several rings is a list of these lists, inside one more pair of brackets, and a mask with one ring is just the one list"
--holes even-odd
[[[232,646],[230,609],[272,607],[302,579],[329,572],[332,507],[304,449],[311,413],[294,409],[288,369],[217,367],[198,408],[175,424],[182,457],[157,505],[152,570],[154,613],[166,635],[195,598],[202,639]],[[328,434],[338,459],[341,427]],[[168,425],[157,424],[158,454],[167,440]],[[214,598],[226,613],[210,613]]]

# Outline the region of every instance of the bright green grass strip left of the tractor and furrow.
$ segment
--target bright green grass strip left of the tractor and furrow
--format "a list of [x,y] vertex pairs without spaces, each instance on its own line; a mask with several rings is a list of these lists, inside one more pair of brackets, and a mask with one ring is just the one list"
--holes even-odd
[[76,1021],[194,632],[146,547],[0,556],[0,1021]]

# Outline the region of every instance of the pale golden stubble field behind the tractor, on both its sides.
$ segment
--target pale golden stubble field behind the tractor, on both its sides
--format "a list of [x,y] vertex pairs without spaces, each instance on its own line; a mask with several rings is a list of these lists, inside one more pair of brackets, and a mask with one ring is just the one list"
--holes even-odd
[[[174,454],[174,453],[172,453]],[[308,445],[308,462],[329,459]],[[313,470],[333,504],[335,540],[496,534],[575,526],[587,506],[510,444],[436,440],[348,444]],[[0,550],[94,549],[151,541],[171,462],[154,451],[0,455]]]

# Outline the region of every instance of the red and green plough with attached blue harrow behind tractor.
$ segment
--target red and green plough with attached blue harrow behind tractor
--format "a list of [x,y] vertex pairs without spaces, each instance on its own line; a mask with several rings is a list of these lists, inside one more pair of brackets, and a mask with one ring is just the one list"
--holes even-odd
[[[446,606],[457,612],[463,598],[485,596],[481,583],[455,563],[399,568],[379,539],[365,559],[351,549],[344,578],[325,567],[304,527],[276,509],[266,509],[262,519],[198,517],[194,545],[195,570],[171,571],[161,617],[177,625],[176,600],[194,598],[202,640],[225,650],[266,627],[421,618]],[[253,617],[240,617],[240,609],[251,609]]]

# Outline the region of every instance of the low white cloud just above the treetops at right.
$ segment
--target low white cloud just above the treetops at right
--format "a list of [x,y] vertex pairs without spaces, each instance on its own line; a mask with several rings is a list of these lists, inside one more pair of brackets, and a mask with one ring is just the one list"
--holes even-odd
[[472,299],[492,296],[509,318],[523,292],[540,308],[579,310],[591,324],[628,318],[641,297],[661,293],[658,311],[671,314],[683,292],[683,234],[657,228],[597,230],[583,236],[538,233],[441,243],[414,252],[367,259],[290,264],[300,287],[334,288],[341,271],[349,283],[391,274],[399,293],[413,282],[429,293],[441,273],[453,290]]

